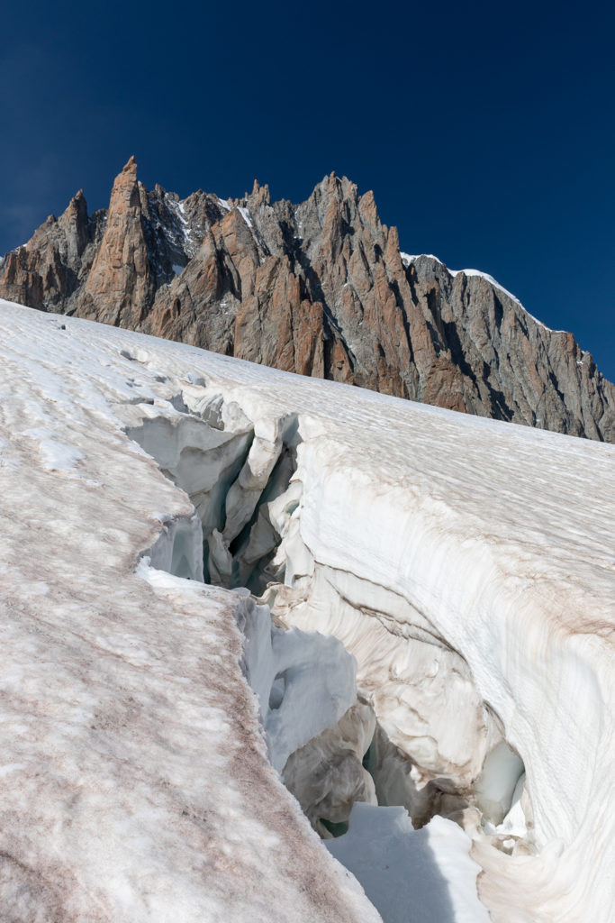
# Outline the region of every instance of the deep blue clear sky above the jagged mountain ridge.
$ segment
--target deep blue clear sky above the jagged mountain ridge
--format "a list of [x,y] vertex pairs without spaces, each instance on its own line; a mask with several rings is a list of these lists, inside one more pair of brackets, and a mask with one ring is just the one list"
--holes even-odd
[[[610,6],[610,8],[609,8]],[[615,379],[612,5],[23,2],[0,19],[0,252],[82,186],[372,188]]]

